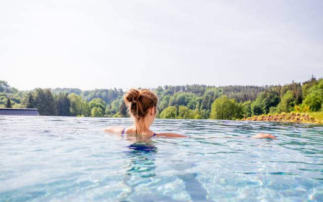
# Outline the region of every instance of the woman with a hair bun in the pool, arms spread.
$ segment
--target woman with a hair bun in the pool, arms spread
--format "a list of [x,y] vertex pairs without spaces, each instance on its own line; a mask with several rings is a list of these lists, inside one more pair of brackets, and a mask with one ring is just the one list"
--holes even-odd
[[[154,133],[149,128],[156,116],[156,107],[158,97],[148,89],[131,89],[124,96],[125,104],[128,107],[129,114],[134,118],[134,124],[131,127],[109,127],[105,132],[122,134],[140,134],[148,137],[187,137],[177,133]],[[229,136],[227,136],[229,137]],[[259,133],[251,138],[269,138],[277,139],[271,134]]]

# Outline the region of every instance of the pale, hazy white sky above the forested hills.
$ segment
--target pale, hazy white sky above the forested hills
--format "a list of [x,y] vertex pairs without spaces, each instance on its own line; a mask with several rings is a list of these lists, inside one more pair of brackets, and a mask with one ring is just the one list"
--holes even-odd
[[19,90],[271,85],[323,77],[323,1],[0,3],[0,80]]

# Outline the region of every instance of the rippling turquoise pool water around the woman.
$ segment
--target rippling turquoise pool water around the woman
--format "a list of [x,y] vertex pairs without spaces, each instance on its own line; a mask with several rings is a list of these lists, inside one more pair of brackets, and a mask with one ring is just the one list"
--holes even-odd
[[[0,116],[0,201],[323,200],[322,125],[155,120],[191,138],[152,139],[112,125],[131,119]],[[260,131],[279,139],[211,138]]]

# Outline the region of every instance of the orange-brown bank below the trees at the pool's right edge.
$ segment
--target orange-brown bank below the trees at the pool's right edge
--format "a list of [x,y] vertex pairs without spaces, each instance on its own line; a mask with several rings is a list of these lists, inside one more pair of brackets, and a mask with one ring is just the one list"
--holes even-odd
[[253,116],[242,120],[323,124],[323,112],[310,112],[310,113],[297,113],[297,112],[284,113],[283,112],[281,114],[267,114],[267,115]]

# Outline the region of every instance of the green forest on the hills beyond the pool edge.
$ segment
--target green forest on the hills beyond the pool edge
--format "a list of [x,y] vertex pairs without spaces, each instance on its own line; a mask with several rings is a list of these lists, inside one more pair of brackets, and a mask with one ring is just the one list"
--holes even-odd
[[[160,86],[161,119],[237,120],[282,112],[323,110],[323,79],[270,86]],[[128,117],[122,89],[36,88],[20,91],[0,81],[0,108],[37,108],[42,116]]]

